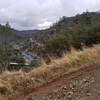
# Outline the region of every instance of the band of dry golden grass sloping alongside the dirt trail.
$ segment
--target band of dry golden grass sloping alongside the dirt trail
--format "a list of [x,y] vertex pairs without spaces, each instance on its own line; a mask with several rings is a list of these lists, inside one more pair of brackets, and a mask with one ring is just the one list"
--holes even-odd
[[[83,51],[71,50],[64,57],[53,60],[50,65],[43,64],[29,73],[4,72],[0,75],[0,83],[5,88],[2,95],[20,96],[29,92],[32,88],[57,79],[64,74],[79,70],[84,65],[100,61],[100,45],[85,48]],[[2,86],[0,87],[2,88]],[[0,97],[3,98],[3,96]],[[4,100],[4,99],[2,99]]]

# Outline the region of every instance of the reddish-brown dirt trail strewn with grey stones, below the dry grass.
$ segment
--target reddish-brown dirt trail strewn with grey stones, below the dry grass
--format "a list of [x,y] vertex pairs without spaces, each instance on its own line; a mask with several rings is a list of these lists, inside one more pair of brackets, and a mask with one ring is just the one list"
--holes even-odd
[[45,86],[20,100],[100,100],[100,64],[91,64]]

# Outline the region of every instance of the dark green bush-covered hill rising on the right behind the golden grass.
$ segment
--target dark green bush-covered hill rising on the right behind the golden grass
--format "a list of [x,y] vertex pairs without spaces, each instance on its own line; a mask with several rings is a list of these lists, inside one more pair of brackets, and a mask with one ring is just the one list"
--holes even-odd
[[50,29],[55,36],[45,42],[49,53],[70,50],[71,47],[82,49],[100,42],[100,13],[84,12],[74,17],[63,17]]

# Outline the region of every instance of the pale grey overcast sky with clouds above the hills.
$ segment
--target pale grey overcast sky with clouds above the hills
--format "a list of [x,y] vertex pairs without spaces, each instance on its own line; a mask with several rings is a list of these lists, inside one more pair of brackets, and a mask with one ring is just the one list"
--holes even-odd
[[15,29],[43,29],[61,16],[100,10],[100,0],[0,0],[0,24]]

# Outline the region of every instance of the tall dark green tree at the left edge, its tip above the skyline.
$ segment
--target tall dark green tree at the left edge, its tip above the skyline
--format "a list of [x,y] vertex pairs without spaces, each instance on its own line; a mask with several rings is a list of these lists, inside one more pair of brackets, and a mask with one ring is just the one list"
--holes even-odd
[[2,41],[0,41],[0,64],[2,69],[6,70],[10,65],[11,45],[9,43],[9,35],[11,33],[10,25],[7,22],[5,26],[2,26],[0,34],[2,34]]

